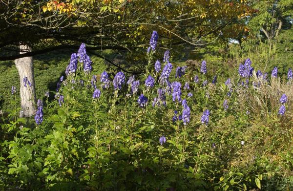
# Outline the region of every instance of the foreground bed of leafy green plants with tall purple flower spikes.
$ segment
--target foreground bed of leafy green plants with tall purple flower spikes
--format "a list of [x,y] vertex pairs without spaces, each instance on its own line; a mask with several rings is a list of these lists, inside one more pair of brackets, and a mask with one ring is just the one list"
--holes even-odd
[[83,51],[55,99],[38,102],[40,125],[17,117],[17,96],[1,113],[3,190],[293,189],[292,80],[215,80],[204,62],[169,76],[153,48],[137,86],[122,72],[91,75]]

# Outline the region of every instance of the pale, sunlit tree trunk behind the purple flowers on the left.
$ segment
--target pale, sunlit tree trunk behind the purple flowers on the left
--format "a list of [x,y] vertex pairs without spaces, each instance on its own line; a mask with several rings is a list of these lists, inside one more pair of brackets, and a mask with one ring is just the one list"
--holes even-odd
[[[20,45],[20,54],[25,52],[31,52],[31,48],[28,45]],[[16,68],[19,72],[21,82],[21,112],[20,117],[30,117],[36,113],[36,90],[35,90],[35,77],[34,77],[34,64],[33,57],[24,57],[15,60]],[[31,83],[31,86],[27,83],[26,87],[23,83],[23,78],[27,77],[27,80]]]

